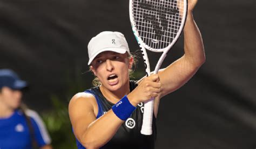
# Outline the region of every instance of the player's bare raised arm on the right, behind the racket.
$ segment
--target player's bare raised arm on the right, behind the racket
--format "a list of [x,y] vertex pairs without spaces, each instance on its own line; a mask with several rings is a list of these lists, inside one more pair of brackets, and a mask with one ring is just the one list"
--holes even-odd
[[184,27],[184,55],[159,71],[162,85],[161,97],[183,86],[205,62],[203,39],[192,11],[197,0],[188,0],[188,12]]

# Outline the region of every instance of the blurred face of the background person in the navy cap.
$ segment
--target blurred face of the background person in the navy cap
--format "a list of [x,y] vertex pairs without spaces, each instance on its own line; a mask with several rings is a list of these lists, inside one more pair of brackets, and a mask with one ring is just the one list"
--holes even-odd
[[0,93],[0,104],[15,110],[21,105],[22,92],[3,87]]

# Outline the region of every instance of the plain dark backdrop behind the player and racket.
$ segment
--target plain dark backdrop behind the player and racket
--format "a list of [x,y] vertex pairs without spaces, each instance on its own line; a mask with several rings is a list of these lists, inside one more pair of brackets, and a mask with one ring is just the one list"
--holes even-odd
[[[198,2],[194,19],[206,63],[161,100],[156,148],[256,147],[254,14],[254,0]],[[139,49],[129,1],[0,0],[0,69],[13,69],[29,82],[24,100],[31,109],[50,110],[52,96],[68,104],[91,86],[87,43],[105,30],[123,32],[130,50]],[[181,55],[182,38],[163,67]],[[137,78],[144,75],[142,62],[139,58]]]

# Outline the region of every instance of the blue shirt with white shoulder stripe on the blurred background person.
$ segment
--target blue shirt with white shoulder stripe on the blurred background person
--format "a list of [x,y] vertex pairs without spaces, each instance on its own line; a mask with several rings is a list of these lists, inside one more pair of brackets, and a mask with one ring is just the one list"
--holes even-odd
[[[35,111],[26,110],[31,120],[35,140],[39,147],[50,144],[51,139],[42,119]],[[15,111],[9,118],[0,118],[0,149],[30,149],[32,139],[24,113]]]

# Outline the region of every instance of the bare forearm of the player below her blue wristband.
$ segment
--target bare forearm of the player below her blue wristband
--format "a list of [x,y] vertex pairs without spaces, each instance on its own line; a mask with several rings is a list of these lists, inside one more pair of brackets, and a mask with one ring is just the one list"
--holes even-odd
[[119,119],[112,110],[93,121],[81,138],[86,148],[99,148],[113,138],[124,121]]

